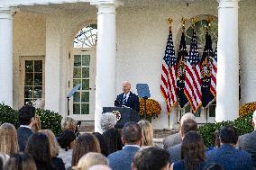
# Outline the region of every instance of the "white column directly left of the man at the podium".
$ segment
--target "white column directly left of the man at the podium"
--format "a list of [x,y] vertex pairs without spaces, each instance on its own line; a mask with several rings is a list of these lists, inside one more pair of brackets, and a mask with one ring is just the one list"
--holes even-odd
[[96,4],[96,111],[95,131],[102,131],[102,108],[114,106],[115,100],[115,8],[116,2],[102,1]]

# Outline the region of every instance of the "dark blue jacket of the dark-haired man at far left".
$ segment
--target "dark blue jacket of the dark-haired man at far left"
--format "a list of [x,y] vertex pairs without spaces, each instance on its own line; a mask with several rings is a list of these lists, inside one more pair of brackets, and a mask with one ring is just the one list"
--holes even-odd
[[17,135],[18,135],[19,148],[21,152],[25,150],[27,142],[29,138],[32,136],[32,134],[33,132],[29,128],[25,128],[25,127],[18,128]]

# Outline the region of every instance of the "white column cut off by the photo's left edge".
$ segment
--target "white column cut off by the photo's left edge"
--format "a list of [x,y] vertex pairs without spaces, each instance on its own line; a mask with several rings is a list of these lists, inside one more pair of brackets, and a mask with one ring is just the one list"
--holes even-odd
[[0,103],[13,107],[13,17],[0,7]]

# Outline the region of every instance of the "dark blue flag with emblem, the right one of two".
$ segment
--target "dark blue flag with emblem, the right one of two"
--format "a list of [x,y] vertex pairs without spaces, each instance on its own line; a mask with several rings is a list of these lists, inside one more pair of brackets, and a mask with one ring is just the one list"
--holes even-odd
[[212,48],[212,38],[209,32],[206,31],[206,45],[203,52],[203,56],[201,58],[201,90],[203,107],[206,107],[215,99],[215,96],[210,91],[213,57],[214,52]]

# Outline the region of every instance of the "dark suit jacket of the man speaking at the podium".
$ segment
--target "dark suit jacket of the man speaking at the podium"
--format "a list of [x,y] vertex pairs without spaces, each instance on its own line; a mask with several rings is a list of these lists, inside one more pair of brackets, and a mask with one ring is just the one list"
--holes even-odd
[[[128,97],[127,103],[125,103],[124,105],[126,105],[127,107],[132,108],[134,111],[139,112],[139,97],[136,94],[133,94],[132,92],[130,92],[130,95]],[[116,100],[114,102],[114,106],[116,107],[120,107],[123,105],[123,94],[119,94],[116,97]]]

